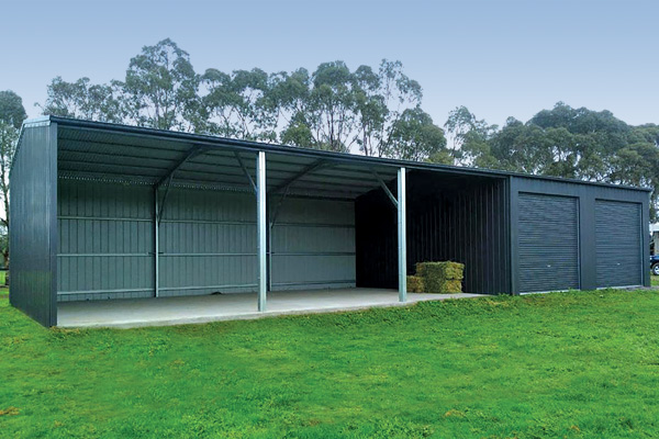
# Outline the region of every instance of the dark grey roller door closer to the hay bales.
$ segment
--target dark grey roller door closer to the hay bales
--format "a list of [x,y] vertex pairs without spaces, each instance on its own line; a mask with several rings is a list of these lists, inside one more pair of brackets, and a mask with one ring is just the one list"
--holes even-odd
[[520,292],[579,289],[579,200],[520,193],[518,222]]

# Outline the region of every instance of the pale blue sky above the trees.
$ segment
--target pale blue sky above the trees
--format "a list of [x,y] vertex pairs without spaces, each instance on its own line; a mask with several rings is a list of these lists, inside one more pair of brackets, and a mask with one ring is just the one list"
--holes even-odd
[[657,0],[0,0],[0,90],[30,117],[54,77],[123,79],[170,37],[198,72],[398,59],[438,125],[458,105],[502,125],[558,101],[659,123]]

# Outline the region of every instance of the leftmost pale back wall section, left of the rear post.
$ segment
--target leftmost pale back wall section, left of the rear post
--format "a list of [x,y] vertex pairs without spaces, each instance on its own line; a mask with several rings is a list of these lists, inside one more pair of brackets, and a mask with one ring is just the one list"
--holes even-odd
[[60,179],[58,300],[149,297],[152,190]]

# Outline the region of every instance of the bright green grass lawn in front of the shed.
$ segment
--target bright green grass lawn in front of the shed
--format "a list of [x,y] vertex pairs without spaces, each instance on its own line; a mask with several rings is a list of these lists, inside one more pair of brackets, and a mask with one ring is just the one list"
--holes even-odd
[[132,330],[0,299],[7,438],[659,436],[659,292]]

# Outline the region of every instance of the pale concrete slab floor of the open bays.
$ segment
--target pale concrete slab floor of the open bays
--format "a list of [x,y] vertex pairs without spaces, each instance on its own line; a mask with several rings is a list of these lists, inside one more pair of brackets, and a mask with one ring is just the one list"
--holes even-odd
[[422,301],[480,295],[407,293],[407,302],[400,303],[395,290],[340,289],[270,292],[268,293],[267,311],[263,313],[256,308],[256,293],[62,302],[57,305],[57,326],[63,328],[134,328],[187,325],[290,314],[406,306]]

